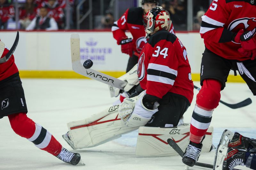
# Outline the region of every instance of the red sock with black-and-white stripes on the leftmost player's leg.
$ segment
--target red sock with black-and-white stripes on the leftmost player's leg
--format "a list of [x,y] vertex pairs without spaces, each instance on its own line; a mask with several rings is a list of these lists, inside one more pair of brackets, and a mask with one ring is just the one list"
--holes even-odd
[[26,113],[12,114],[8,116],[13,131],[21,137],[33,142],[36,147],[57,156],[62,146],[50,132],[41,125],[29,119]]

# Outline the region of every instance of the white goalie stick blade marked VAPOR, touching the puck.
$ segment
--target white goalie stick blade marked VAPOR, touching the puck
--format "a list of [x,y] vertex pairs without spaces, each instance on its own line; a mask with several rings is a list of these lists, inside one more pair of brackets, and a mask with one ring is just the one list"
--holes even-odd
[[[85,69],[85,66],[82,65],[80,59],[80,38],[78,33],[71,34],[70,37],[71,44],[71,58],[72,58],[72,69],[85,77],[92,78],[94,80],[100,81],[107,85],[114,86],[121,90],[124,90],[124,86],[127,82],[109,76],[107,74],[101,73],[93,69]],[[87,61],[87,60],[86,60]],[[84,65],[87,63],[84,63]]]

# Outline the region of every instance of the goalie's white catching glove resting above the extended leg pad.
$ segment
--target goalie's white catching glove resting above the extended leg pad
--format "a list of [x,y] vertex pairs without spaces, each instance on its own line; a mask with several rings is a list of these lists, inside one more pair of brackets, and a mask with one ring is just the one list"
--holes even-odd
[[119,106],[118,112],[120,118],[124,121],[126,126],[144,126],[151,119],[152,115],[158,111],[158,102],[148,103],[148,101],[142,101],[145,95],[146,90],[133,98],[125,98],[123,103]]

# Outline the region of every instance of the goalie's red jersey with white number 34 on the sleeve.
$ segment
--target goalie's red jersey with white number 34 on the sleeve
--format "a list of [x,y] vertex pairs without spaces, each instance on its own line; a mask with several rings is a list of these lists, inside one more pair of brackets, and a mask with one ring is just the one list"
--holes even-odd
[[146,93],[162,98],[167,92],[193,99],[193,81],[186,48],[172,33],[151,35],[138,61],[138,77]]

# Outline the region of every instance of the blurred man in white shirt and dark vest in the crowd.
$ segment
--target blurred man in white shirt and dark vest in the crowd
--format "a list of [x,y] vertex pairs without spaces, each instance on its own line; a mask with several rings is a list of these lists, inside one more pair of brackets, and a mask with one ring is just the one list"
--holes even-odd
[[31,30],[58,30],[58,25],[54,18],[50,18],[47,16],[48,11],[46,7],[40,8],[40,16],[35,17],[29,26],[26,28],[27,31]]

